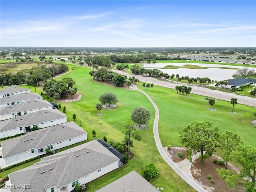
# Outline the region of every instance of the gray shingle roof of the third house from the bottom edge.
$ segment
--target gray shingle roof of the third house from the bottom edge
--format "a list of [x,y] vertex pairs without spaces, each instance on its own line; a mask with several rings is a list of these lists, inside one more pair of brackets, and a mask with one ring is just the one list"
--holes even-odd
[[[2,141],[2,155],[3,158],[7,158],[33,148],[38,150],[85,134],[87,134],[87,132],[72,121],[35,130],[24,136]],[[27,141],[25,142],[25,140]]]

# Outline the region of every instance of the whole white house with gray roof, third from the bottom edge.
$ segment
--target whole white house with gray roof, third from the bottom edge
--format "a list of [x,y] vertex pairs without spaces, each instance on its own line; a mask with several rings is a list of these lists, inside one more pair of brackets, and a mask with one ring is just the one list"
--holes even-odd
[[87,132],[73,121],[29,132],[24,136],[2,141],[1,168],[87,140]]

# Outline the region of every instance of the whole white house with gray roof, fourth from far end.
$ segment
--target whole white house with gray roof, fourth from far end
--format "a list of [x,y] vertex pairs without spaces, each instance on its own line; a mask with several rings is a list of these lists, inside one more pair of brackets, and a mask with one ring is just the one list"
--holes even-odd
[[0,122],[0,138],[30,132],[38,126],[46,128],[67,122],[67,116],[58,109],[42,110]]

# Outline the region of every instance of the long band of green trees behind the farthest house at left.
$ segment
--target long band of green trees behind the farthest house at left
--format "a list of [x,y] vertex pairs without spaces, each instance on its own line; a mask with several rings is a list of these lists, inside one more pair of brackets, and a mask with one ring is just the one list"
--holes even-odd
[[51,67],[38,64],[34,70],[31,70],[29,74],[22,71],[17,73],[2,74],[0,76],[1,86],[28,84],[32,86],[38,86],[39,82],[54,77],[56,74],[60,74],[68,71],[68,66],[65,64],[54,64]]

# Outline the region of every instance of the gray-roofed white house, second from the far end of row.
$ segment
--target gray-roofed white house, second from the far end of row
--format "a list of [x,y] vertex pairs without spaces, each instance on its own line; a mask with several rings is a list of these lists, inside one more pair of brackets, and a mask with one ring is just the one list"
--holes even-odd
[[9,105],[18,104],[21,102],[26,102],[29,100],[42,100],[42,96],[38,93],[20,93],[8,97],[1,97],[0,98],[0,107],[5,107]]

